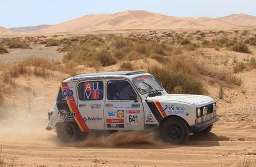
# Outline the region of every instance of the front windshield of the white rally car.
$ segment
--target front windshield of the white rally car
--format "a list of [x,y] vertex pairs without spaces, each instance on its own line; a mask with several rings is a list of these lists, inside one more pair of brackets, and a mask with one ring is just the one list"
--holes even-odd
[[135,77],[133,78],[133,83],[142,95],[163,90],[162,86],[153,76]]

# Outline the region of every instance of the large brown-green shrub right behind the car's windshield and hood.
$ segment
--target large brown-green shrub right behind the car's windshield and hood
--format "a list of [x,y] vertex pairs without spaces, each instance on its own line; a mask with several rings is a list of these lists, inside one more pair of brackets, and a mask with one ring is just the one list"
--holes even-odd
[[169,93],[174,92],[175,87],[179,86],[179,93],[181,94],[206,94],[202,80],[184,71],[173,71],[169,68],[169,65],[152,66],[149,67],[148,71],[157,78]]

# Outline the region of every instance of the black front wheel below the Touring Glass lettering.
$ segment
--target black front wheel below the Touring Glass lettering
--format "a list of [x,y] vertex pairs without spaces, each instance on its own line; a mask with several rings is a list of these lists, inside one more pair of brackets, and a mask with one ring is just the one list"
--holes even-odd
[[168,118],[160,127],[160,135],[166,142],[180,144],[188,140],[189,127],[181,118]]

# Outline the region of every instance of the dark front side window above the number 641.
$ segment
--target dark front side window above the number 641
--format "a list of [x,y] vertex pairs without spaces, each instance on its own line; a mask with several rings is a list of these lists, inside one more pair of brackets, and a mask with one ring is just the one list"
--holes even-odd
[[107,99],[108,100],[129,100],[130,95],[135,95],[131,84],[127,81],[108,81]]

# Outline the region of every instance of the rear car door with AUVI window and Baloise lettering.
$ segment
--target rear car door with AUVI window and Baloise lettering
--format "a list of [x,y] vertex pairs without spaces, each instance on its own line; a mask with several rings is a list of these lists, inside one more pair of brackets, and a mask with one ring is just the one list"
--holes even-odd
[[104,129],[105,80],[81,81],[77,84],[77,106],[89,129]]

